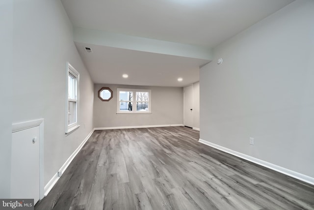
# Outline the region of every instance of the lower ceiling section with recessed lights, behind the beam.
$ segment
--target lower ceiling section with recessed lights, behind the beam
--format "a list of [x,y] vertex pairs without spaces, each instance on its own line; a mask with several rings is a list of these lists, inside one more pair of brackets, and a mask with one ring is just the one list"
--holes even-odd
[[[84,44],[76,46],[85,65],[93,69],[94,83],[182,87],[199,81],[199,66],[208,62],[97,45],[89,45],[93,53],[87,53]],[[122,74],[129,78],[122,78]],[[188,82],[178,82],[178,77],[188,78]]]

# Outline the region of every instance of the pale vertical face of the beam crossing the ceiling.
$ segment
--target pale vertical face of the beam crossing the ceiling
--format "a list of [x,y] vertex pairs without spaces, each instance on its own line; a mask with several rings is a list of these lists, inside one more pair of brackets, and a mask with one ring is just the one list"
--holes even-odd
[[176,42],[130,36],[102,30],[74,28],[74,41],[142,52],[180,56],[211,61],[212,49],[207,47],[181,44]]

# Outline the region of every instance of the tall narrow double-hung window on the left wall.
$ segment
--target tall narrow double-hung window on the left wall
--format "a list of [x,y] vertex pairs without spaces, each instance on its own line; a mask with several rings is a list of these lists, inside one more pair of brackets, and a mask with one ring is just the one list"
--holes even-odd
[[67,99],[66,99],[66,132],[70,133],[78,128],[79,104],[79,73],[68,62],[67,68]]

